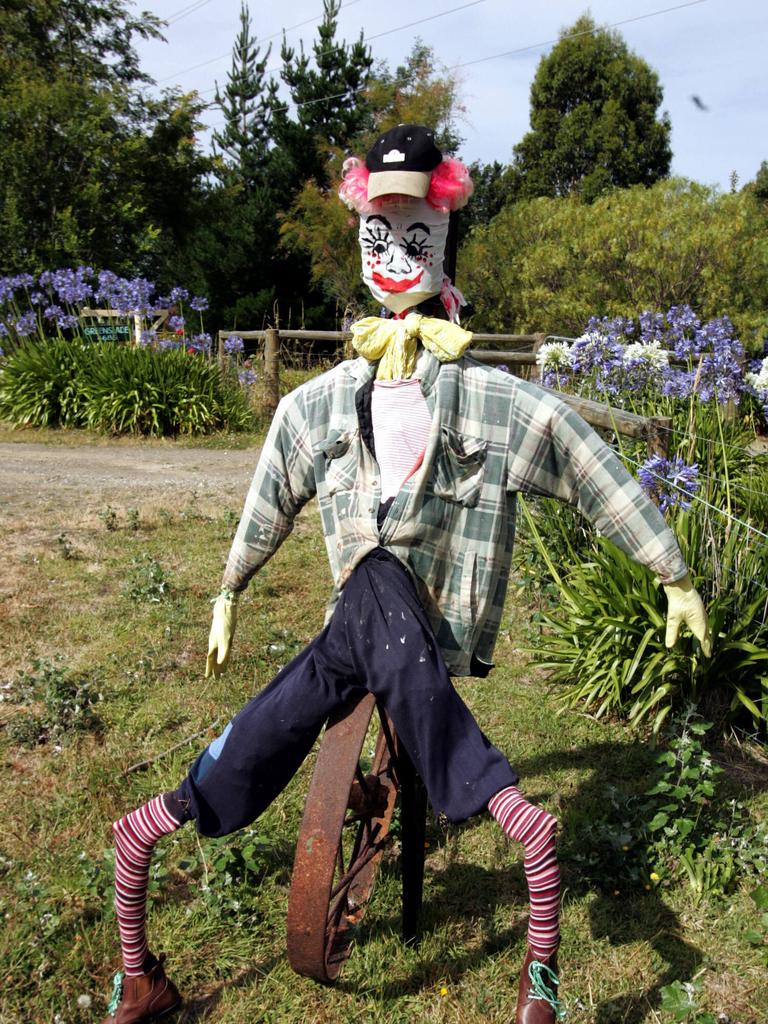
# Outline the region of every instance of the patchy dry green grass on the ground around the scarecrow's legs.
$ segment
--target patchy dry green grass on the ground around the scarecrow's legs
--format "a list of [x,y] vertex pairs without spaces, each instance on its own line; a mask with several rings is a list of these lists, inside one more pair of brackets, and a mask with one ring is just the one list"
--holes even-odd
[[[0,703],[0,1024],[99,1019],[119,964],[109,899],[110,822],[177,784],[228,716],[323,623],[330,573],[310,507],[247,592],[229,673],[205,681],[209,598],[232,517],[179,511],[183,501],[163,515],[144,512],[139,500],[132,504],[139,505],[136,530],[109,531],[56,510],[47,513],[47,532],[35,532],[39,522],[13,526],[16,534],[30,530],[30,541],[5,564],[0,685],[31,669],[35,657],[60,655],[67,670],[97,684],[103,725],[66,737],[60,749],[30,749],[11,735],[23,710]],[[118,511],[125,523],[126,510]],[[76,557],[40,540],[65,528]],[[124,592],[142,555],[170,581],[170,596],[159,603],[137,603]],[[561,970],[569,1020],[665,1021],[660,987],[703,972],[701,1009],[740,1024],[765,1022],[764,953],[744,940],[755,919],[754,881],[726,900],[697,903],[683,886],[616,892],[579,877],[571,859],[577,836],[600,813],[606,783],[642,792],[653,752],[626,727],[575,713],[556,717],[545,680],[521,653],[530,640],[525,610],[510,602],[497,671],[460,689],[528,794],[562,823]],[[207,731],[172,750],[201,730]],[[759,754],[735,748],[726,754],[734,795],[765,816]],[[148,767],[128,771],[145,760]],[[392,858],[341,981],[323,987],[292,973],[285,951],[288,885],[311,767],[310,758],[255,825],[261,844],[255,873],[227,884],[213,866],[220,844],[199,844],[190,826],[159,848],[159,868],[167,874],[153,893],[150,934],[155,949],[169,952],[169,974],[186,997],[178,1020],[511,1021],[525,946],[525,884],[519,851],[485,818],[447,830],[430,825],[419,946],[406,948],[398,937]]]

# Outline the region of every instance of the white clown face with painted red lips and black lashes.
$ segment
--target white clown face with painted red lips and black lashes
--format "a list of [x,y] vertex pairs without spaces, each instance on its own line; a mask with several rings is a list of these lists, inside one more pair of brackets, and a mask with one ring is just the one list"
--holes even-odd
[[360,216],[362,280],[387,309],[399,313],[439,293],[449,216],[416,199]]

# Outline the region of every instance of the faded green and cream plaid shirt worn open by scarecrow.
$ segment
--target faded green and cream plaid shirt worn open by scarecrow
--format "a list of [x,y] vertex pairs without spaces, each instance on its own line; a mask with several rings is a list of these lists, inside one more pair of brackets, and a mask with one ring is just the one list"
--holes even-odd
[[509,579],[518,492],[577,506],[663,583],[687,567],[656,507],[617,456],[556,395],[464,356],[423,359],[432,412],[424,461],[381,528],[379,467],[361,436],[355,394],[376,373],[341,364],[281,401],[246,499],[224,586],[243,590],[317,497],[334,579],[329,614],[376,547],[410,570],[449,670],[493,657]]

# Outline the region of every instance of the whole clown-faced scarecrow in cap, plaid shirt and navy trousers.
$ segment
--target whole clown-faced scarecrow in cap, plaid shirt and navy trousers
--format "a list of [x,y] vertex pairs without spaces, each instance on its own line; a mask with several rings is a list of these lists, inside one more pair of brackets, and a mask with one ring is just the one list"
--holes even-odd
[[145,934],[158,840],[194,820],[204,836],[250,824],[282,792],[331,712],[373,692],[435,812],[488,811],[522,844],[530,914],[517,1024],[553,1024],[558,1000],[557,821],[530,804],[451,677],[485,676],[507,588],[519,492],[577,506],[655,572],[667,642],[707,616],[655,506],[614,453],[556,395],[466,353],[462,297],[444,274],[467,169],[433,133],[399,125],[339,194],[359,215],[362,278],[385,316],[352,327],[358,357],[286,396],[272,421],[215,601],[206,676],[223,672],[238,596],[316,497],[334,591],[323,632],[229,722],[173,792],[113,826],[124,972],[104,1024],[138,1024],[180,1001]]

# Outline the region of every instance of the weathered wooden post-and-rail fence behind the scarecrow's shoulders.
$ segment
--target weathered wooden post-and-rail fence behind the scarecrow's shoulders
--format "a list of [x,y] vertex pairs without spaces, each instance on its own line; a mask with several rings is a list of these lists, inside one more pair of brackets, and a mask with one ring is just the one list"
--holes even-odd
[[[351,338],[348,331],[284,331],[268,328],[265,331],[219,331],[219,359],[226,359],[224,342],[230,335],[236,335],[244,341],[263,342],[264,345],[264,411],[273,415],[280,400],[280,343],[281,341],[334,341],[345,344]],[[473,343],[493,343],[495,345],[519,345],[523,348],[513,349],[482,349],[473,348],[472,356],[479,362],[492,366],[516,367],[519,370],[536,366],[536,353],[544,344],[548,335],[537,334],[474,334]],[[593,427],[613,430],[627,437],[644,440],[648,456],[669,455],[669,438],[672,429],[672,419],[669,416],[638,416],[627,413],[601,401],[592,401],[580,395],[567,394],[564,391],[552,391],[559,398],[571,406],[579,415]]]

